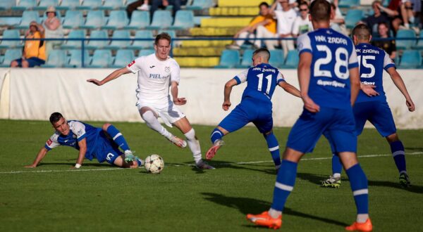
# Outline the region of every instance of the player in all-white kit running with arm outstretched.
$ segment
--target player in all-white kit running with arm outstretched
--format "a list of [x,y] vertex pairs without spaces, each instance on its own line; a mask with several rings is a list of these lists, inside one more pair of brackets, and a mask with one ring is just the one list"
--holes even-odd
[[[126,67],[115,70],[102,81],[97,79],[88,79],[101,86],[121,75],[130,72],[138,73],[137,87],[137,108],[147,127],[159,132],[169,141],[180,148],[185,148],[187,142],[183,139],[173,136],[163,126],[161,126],[158,117],[164,120],[169,127],[176,126],[187,138],[188,146],[192,151],[195,165],[201,169],[214,169],[202,160],[200,142],[195,136],[190,122],[175,105],[185,105],[185,98],[178,97],[178,84],[180,79],[180,67],[176,60],[169,56],[171,51],[171,37],[167,33],[158,34],[154,41],[155,53],[149,56],[141,56],[133,60]],[[171,86],[171,95],[169,94]],[[126,161],[132,161],[132,157],[125,158]]]

